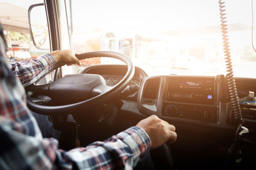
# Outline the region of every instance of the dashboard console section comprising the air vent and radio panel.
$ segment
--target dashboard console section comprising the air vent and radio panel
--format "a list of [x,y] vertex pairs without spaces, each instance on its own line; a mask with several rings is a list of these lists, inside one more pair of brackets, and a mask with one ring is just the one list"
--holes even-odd
[[214,77],[148,77],[139,95],[139,111],[166,120],[216,124],[220,100]]

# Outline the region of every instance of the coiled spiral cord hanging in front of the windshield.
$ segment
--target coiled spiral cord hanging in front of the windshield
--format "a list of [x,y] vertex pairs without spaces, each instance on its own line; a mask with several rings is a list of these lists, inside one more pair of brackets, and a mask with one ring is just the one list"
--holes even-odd
[[219,0],[219,7],[220,7],[220,15],[221,15],[221,35],[222,35],[222,43],[223,43],[223,50],[224,50],[224,56],[225,56],[225,63],[226,63],[226,71],[227,71],[227,84],[228,84],[228,92],[231,99],[231,107],[234,111],[234,118],[235,120],[239,121],[239,123],[242,123],[242,113],[239,105],[239,98],[236,92],[236,86],[235,86],[235,78],[233,74],[233,66],[232,66],[232,60],[230,56],[230,49],[229,49],[229,41],[228,41],[228,24],[227,24],[227,17],[225,16],[226,9],[224,9],[226,6],[224,5],[225,2],[222,0]]

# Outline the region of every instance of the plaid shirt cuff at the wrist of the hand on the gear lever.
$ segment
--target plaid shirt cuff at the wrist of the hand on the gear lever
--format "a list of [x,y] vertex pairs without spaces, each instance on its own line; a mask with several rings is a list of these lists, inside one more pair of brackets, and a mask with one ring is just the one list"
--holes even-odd
[[123,141],[133,150],[137,157],[142,157],[151,149],[151,140],[148,134],[137,126],[118,133],[117,136],[123,138]]

